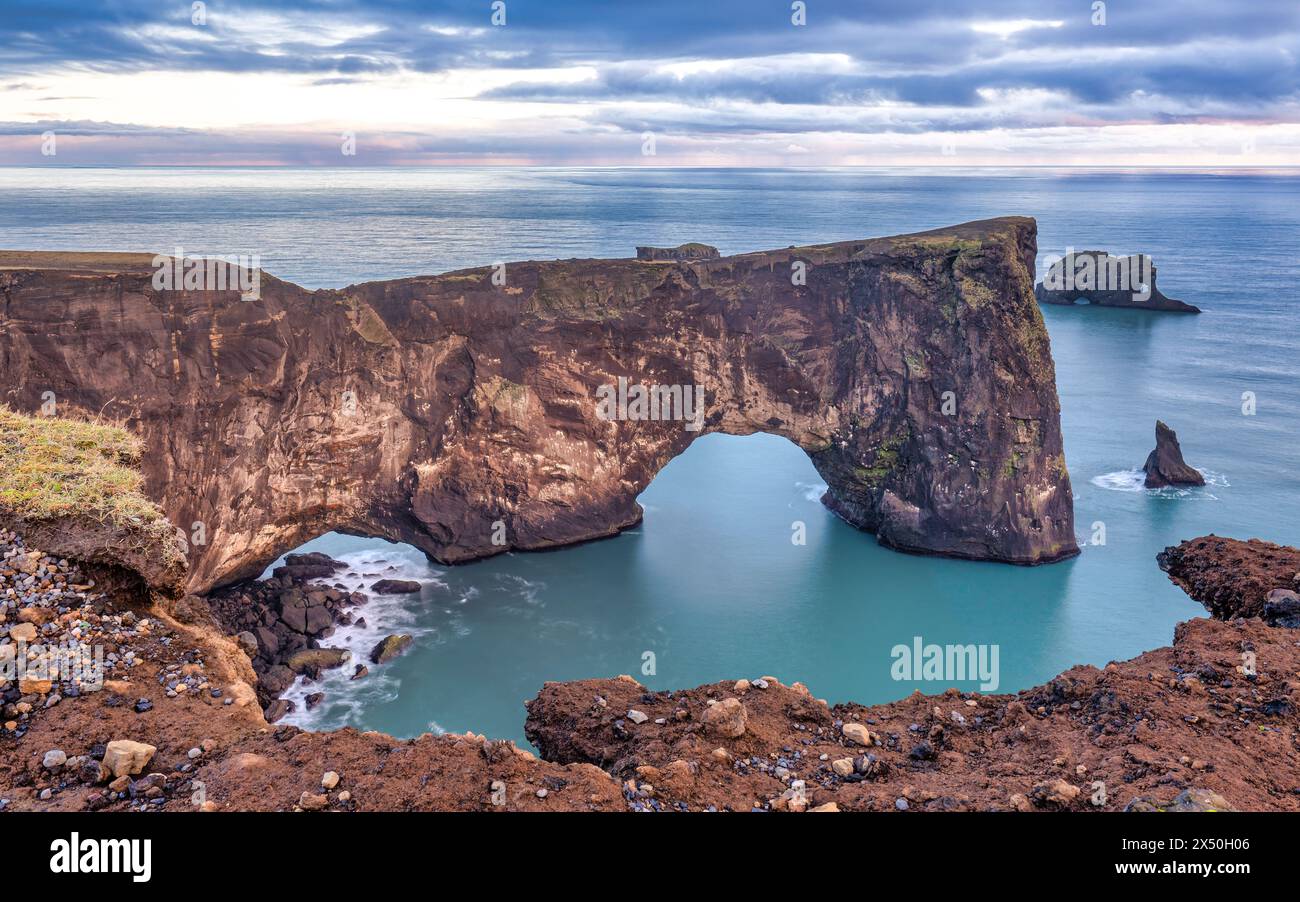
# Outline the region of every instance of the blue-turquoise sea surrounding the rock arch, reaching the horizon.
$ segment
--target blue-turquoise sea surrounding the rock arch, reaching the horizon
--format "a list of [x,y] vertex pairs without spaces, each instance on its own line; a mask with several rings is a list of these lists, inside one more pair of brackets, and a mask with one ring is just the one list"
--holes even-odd
[[[363,573],[426,582],[374,600],[359,650],[398,629],[403,658],[326,680],[295,715],[410,736],[523,740],[546,680],[632,673],[653,688],[802,680],[881,702],[946,682],[890,678],[914,636],[1000,646],[1000,690],[1170,641],[1202,613],[1156,552],[1216,532],[1300,543],[1300,179],[1277,175],[867,170],[25,170],[0,169],[0,247],[256,252],[308,286],[499,259],[629,256],[705,240],[724,253],[1036,216],[1041,261],[1067,247],[1150,253],[1160,287],[1201,316],[1048,308],[1083,554],[1041,568],[880,548],[816,502],[803,454],[771,435],[708,435],[641,498],[618,538],[454,568],[378,541],[311,543]],[[1253,416],[1242,394],[1254,393]],[[1154,420],[1210,485],[1134,485]],[[807,542],[790,542],[792,522]],[[1093,522],[1105,545],[1088,545]],[[390,571],[389,568],[394,568]],[[644,673],[645,652],[654,675]],[[974,682],[959,684],[974,688]],[[316,686],[320,688],[320,686]],[[315,688],[313,688],[315,689]],[[299,690],[302,694],[302,690]]]

